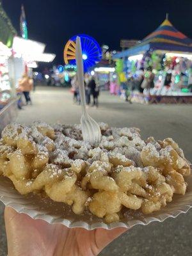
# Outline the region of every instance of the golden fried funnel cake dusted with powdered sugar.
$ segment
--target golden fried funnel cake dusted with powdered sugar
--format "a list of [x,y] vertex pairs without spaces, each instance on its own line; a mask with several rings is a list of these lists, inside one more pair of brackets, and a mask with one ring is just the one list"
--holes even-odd
[[100,144],[83,141],[80,125],[7,125],[0,141],[0,175],[20,194],[35,193],[88,209],[107,223],[125,209],[158,211],[184,195],[190,166],[171,138],[141,140],[136,128],[100,124]]

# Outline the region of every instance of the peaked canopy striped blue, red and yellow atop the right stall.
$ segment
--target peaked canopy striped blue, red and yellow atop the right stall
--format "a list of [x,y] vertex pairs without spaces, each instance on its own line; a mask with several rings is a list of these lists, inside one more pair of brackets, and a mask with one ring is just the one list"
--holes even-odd
[[140,44],[115,54],[113,59],[132,56],[149,50],[192,52],[192,40],[175,29],[168,19],[165,19],[159,28],[145,37]]

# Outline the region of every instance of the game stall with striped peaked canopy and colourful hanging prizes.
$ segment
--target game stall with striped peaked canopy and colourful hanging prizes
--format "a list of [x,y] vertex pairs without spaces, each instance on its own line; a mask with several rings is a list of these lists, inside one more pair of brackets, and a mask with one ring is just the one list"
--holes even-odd
[[[124,60],[127,79],[134,78],[132,101],[192,102],[192,40],[175,29],[168,17],[140,44],[113,56],[119,58]],[[142,70],[143,84],[138,83]],[[145,83],[150,70],[154,75],[152,86]]]

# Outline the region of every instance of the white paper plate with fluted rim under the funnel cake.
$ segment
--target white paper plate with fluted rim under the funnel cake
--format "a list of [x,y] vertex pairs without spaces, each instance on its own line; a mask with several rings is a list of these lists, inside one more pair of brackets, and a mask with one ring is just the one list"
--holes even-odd
[[162,222],[166,218],[176,218],[180,213],[186,213],[192,207],[192,175],[186,179],[188,189],[186,195],[174,195],[173,201],[168,203],[161,211],[144,215],[140,211],[127,211],[121,221],[106,224],[102,219],[86,212],[76,215],[70,207],[63,203],[56,203],[37,195],[20,195],[13,187],[12,182],[0,178],[0,200],[4,205],[10,206],[15,211],[28,214],[33,219],[42,219],[48,223],[61,223],[68,228],[82,227],[87,230],[95,228],[112,229],[116,227],[130,228],[134,225],[147,225],[152,221]]

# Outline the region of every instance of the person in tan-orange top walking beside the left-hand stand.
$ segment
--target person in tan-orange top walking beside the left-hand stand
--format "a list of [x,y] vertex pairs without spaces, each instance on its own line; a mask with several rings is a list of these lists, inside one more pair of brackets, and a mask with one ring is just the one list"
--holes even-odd
[[28,103],[32,104],[29,93],[31,92],[31,90],[33,90],[33,79],[31,79],[28,76],[28,74],[24,74],[22,76],[22,79],[20,79],[19,81],[19,87],[21,88],[22,93],[24,94],[24,97],[26,99],[26,104],[27,105]]

